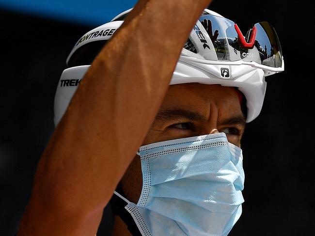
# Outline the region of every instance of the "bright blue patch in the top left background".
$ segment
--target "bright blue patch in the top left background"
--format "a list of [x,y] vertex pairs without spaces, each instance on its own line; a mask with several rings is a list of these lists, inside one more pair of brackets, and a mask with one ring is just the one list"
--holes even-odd
[[0,8],[87,26],[99,26],[137,0],[0,0]]

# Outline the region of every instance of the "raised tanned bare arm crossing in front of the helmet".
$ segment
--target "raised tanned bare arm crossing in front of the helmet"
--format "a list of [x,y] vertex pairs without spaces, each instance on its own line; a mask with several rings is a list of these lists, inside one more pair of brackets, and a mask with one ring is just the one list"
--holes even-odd
[[96,232],[99,212],[142,144],[209,1],[137,4],[95,58],[48,142],[18,236]]

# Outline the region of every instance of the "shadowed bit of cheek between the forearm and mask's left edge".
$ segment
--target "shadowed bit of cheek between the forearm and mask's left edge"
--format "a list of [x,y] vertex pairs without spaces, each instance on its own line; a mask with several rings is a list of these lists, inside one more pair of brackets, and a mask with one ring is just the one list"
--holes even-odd
[[142,190],[142,171],[141,161],[139,156],[135,156],[132,160],[126,173],[121,179],[121,187],[126,195],[126,198],[133,203],[137,203]]

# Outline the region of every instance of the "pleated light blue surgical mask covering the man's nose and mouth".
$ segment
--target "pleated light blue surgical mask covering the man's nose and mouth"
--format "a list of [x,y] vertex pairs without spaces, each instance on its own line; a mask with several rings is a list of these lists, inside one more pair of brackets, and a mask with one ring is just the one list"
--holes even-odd
[[224,133],[139,150],[143,186],[126,210],[142,236],[226,236],[244,202],[242,151]]

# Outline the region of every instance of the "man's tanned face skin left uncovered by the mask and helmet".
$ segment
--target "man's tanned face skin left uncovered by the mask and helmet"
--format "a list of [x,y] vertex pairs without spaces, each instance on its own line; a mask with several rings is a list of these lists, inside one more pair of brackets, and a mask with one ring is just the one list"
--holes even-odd
[[[245,117],[235,88],[176,84],[169,86],[142,145],[224,132],[229,142],[240,146],[244,129]],[[139,156],[129,165],[121,186],[127,199],[137,203],[142,189]]]

